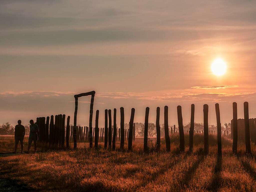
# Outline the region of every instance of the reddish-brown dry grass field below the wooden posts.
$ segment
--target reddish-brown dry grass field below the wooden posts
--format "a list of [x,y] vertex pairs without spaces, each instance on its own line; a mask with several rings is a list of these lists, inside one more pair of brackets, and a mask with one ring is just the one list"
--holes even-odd
[[[140,138],[133,143],[133,152],[104,150],[103,143],[95,150],[79,143],[76,150],[1,154],[0,179],[26,191],[256,191],[253,144],[252,156],[245,154],[242,144],[234,156],[232,141],[222,137],[223,155],[218,157],[213,135],[207,156],[203,135],[194,136],[193,154],[188,153],[188,135],[185,141],[184,153],[179,152],[179,138],[174,135],[171,152],[165,151],[163,139],[161,151],[156,152],[153,139],[150,152],[144,153]],[[116,145],[119,148],[119,142]],[[13,151],[13,146],[13,137],[0,137],[0,152]]]

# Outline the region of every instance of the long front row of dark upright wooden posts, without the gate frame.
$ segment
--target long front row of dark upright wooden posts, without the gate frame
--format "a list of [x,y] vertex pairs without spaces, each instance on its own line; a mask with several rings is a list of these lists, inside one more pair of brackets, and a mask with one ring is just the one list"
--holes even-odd
[[[148,150],[148,116],[149,116],[149,107],[146,108],[145,112],[145,127],[144,127],[144,151]],[[217,143],[218,143],[218,154],[222,153],[221,149],[221,124],[220,124],[220,111],[219,104],[215,104],[216,110],[216,119],[217,119]],[[205,104],[203,106],[204,113],[204,153],[208,154],[209,152],[209,130],[208,130],[208,105]],[[124,148],[124,140],[126,138],[126,130],[124,130],[124,108],[120,108],[121,120],[120,120],[120,129],[119,129],[119,139],[120,139],[120,149]],[[128,150],[132,150],[132,141],[135,140],[135,124],[134,124],[134,114],[135,109],[131,110],[131,118],[129,122],[129,129],[127,130],[128,136]],[[179,129],[179,140],[180,140],[180,151],[185,151],[185,141],[184,141],[184,130],[183,130],[183,119],[182,119],[182,107],[179,105],[177,107],[178,114],[178,129]],[[193,135],[195,133],[194,130],[194,116],[195,116],[195,105],[191,105],[191,119],[190,119],[190,129],[189,129],[189,151],[193,151]],[[50,119],[50,123],[49,123]],[[160,148],[160,108],[156,109],[156,148]],[[45,123],[46,120],[46,123]],[[94,139],[94,147],[98,147],[99,141],[99,110],[96,111],[96,119],[95,119],[95,128],[92,133],[92,127],[84,127],[84,131],[82,131],[83,127],[80,126],[71,126],[71,134],[70,134],[70,125],[69,125],[70,116],[67,118],[67,126],[66,126],[66,134],[65,134],[65,115],[55,115],[55,124],[54,124],[54,116],[51,115],[51,118],[40,117],[37,118],[36,124],[39,126],[39,141],[49,142],[49,146],[59,146],[64,147],[65,144],[65,135],[66,135],[66,147],[69,147],[69,140],[72,140],[72,136],[74,137],[74,148],[77,146],[77,138],[79,140],[88,140],[90,147],[92,147],[93,135]],[[116,109],[114,109],[113,114],[113,128],[112,128],[112,118],[111,118],[111,110],[105,110],[105,127],[102,128],[101,132],[101,140],[103,140],[104,134],[104,148],[112,148],[115,150],[115,142],[117,140],[117,129],[116,129]],[[237,153],[237,142],[238,142],[238,129],[237,129],[237,103],[233,103],[233,120],[232,120],[232,135],[233,135],[233,153]],[[49,127],[49,129],[48,129]],[[78,129],[78,134],[76,131]],[[49,132],[47,131],[49,130]],[[164,107],[164,131],[165,131],[165,143],[166,150],[170,151],[170,137],[169,137],[169,129],[168,129],[168,106]],[[245,144],[246,144],[246,152],[251,153],[250,146],[250,126],[249,126],[249,110],[248,110],[248,102],[244,102],[244,132],[245,132]],[[69,136],[70,135],[70,136]]]

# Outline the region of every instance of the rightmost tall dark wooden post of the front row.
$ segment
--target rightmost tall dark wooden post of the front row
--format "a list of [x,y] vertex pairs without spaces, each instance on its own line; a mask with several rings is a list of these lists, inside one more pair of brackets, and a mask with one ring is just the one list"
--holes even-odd
[[248,102],[244,102],[243,107],[244,107],[244,133],[245,133],[246,152],[251,153]]

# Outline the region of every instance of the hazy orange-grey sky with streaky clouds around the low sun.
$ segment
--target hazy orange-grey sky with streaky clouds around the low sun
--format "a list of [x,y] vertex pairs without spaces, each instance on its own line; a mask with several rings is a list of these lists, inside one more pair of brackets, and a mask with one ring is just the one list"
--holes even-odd
[[[94,116],[124,107],[125,123],[156,120],[169,107],[169,124],[232,119],[232,102],[249,102],[256,118],[255,1],[0,1],[0,123],[27,124],[38,116],[70,115],[74,94],[95,90]],[[215,76],[211,63],[227,63]],[[79,98],[78,120],[89,124],[90,97]],[[113,117],[113,114],[112,114]]]

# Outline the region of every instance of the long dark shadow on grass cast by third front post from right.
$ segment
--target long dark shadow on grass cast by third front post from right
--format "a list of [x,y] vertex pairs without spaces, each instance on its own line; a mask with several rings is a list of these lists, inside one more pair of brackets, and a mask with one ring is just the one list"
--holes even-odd
[[217,157],[217,162],[214,167],[214,176],[212,177],[211,184],[207,187],[209,191],[218,191],[220,188],[220,180],[221,180],[221,167],[222,167],[222,156]]

